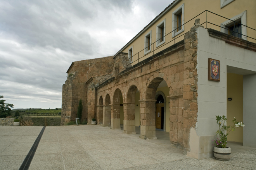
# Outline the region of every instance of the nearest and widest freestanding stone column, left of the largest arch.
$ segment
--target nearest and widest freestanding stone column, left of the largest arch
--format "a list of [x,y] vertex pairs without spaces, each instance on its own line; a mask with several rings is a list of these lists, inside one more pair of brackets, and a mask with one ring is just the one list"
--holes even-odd
[[156,137],[156,100],[139,100],[140,102],[140,138],[157,139]]

